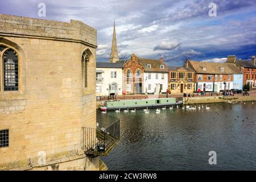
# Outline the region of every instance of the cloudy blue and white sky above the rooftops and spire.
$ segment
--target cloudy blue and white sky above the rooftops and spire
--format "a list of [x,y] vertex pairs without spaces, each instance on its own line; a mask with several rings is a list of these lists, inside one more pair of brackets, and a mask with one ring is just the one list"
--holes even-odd
[[[39,3],[46,16],[38,16]],[[216,15],[210,3],[215,3]],[[169,66],[184,60],[224,62],[228,55],[256,54],[256,0],[0,0],[0,13],[70,22],[97,30],[97,61],[109,61],[115,19],[119,59],[132,53],[163,57]]]

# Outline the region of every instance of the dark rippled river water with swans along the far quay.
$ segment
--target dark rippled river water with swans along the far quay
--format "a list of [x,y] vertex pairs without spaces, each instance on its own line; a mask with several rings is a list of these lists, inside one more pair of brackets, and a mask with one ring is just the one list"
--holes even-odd
[[[121,140],[101,159],[109,170],[255,170],[256,103],[193,106],[160,114],[108,112],[121,119]],[[208,162],[210,151],[217,153],[216,165]]]

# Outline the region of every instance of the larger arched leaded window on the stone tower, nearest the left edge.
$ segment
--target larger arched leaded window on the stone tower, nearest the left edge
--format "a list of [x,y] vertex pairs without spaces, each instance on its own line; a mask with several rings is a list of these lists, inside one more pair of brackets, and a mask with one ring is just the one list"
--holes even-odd
[[3,89],[5,91],[19,90],[18,53],[8,49],[3,53]]

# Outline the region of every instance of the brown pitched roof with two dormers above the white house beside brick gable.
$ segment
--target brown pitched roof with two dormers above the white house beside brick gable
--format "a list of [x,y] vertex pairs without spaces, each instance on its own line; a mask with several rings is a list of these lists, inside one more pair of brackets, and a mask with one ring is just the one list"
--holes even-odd
[[[161,60],[138,57],[138,61],[143,64],[144,72],[169,72],[167,65]],[[148,64],[151,68],[147,68]],[[160,65],[164,65],[164,69],[160,69]]]

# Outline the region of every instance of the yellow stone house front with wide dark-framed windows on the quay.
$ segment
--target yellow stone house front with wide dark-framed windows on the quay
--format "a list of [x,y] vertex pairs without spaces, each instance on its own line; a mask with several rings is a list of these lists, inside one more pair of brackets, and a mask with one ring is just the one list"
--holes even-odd
[[172,93],[193,93],[195,73],[192,69],[181,67],[170,69],[169,90]]

